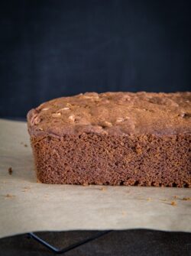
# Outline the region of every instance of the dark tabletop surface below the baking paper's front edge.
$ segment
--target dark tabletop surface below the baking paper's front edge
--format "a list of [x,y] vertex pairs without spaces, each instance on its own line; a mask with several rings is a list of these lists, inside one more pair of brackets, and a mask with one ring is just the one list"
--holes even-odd
[[[41,232],[38,235],[58,248],[66,247],[95,234],[95,231]],[[16,235],[0,239],[0,256],[49,256],[47,248],[27,235]],[[178,256],[191,255],[191,233],[159,232],[151,230],[115,231],[95,239],[86,245],[66,252],[67,256]]]

